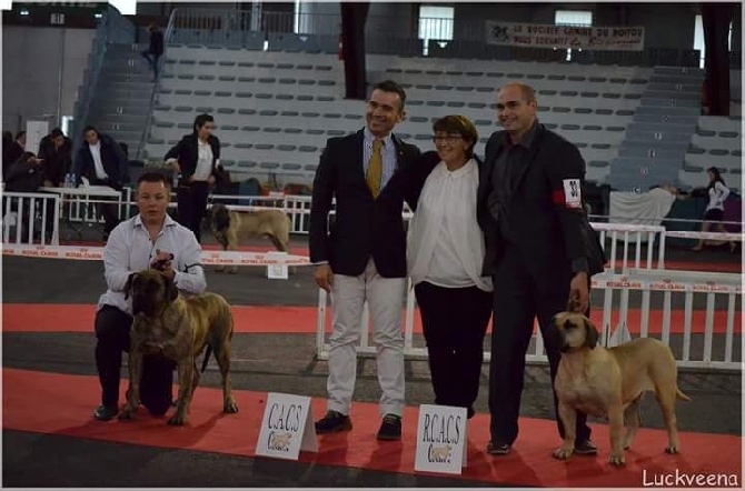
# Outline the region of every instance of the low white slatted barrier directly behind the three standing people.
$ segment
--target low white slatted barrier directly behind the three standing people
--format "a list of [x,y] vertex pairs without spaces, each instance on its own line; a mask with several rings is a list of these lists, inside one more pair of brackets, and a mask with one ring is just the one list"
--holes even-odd
[[[655,337],[669,345],[670,335],[682,333],[681,349],[678,350],[677,345],[673,347],[673,353],[676,357],[678,367],[739,370],[742,362],[737,359],[739,357],[735,357],[733,349],[736,341],[739,344],[739,337],[742,335],[742,323],[738,325],[738,331],[735,332],[737,299],[742,297],[741,281],[741,274],[647,269],[632,269],[626,274],[614,274],[612,272],[597,274],[593,278],[593,290],[603,290],[605,294],[603,321],[602,325],[597,325],[598,330],[602,330],[600,342],[605,347],[613,347],[630,339],[629,328],[634,328],[636,331],[637,327],[629,325],[629,292],[640,291],[642,308],[639,325],[634,337]],[[407,359],[426,360],[427,349],[424,344],[424,338],[415,343],[416,301],[414,290],[407,288],[407,291],[404,311],[404,353]],[[618,310],[614,315],[613,297],[617,291],[620,292],[620,300],[618,302]],[[654,329],[654,332],[650,329],[649,303],[652,292],[663,292],[662,329],[659,331]],[[673,323],[673,295],[684,297],[683,325]],[[726,297],[727,299],[725,325],[722,325],[721,322],[715,323],[715,298],[717,295]],[[703,330],[701,325],[694,325],[693,304],[695,297],[705,297],[706,300]],[[404,299],[401,300],[404,301]],[[328,315],[330,310],[328,302],[329,295],[326,291],[319,290],[318,315],[316,319],[316,354],[320,360],[328,360],[330,349],[330,344],[327,341],[327,335],[331,331],[331,325],[327,322],[327,319],[330,317]],[[617,317],[617,319],[614,320],[614,317]],[[377,351],[375,345],[370,345],[371,324],[367,303],[362,311],[361,322],[367,329],[362,329],[357,353],[361,357],[375,357]],[[702,335],[703,340],[701,340]],[[713,349],[714,340],[717,339],[718,348],[718,344],[722,344],[719,342],[722,341],[722,337],[724,337],[724,348],[723,350],[717,349],[715,355],[715,350]],[[533,341],[532,348],[526,355],[526,361],[548,362],[540,331],[537,329],[533,335]],[[742,353],[739,354],[742,357]],[[489,359],[490,355],[487,351],[485,352],[485,361]]]

